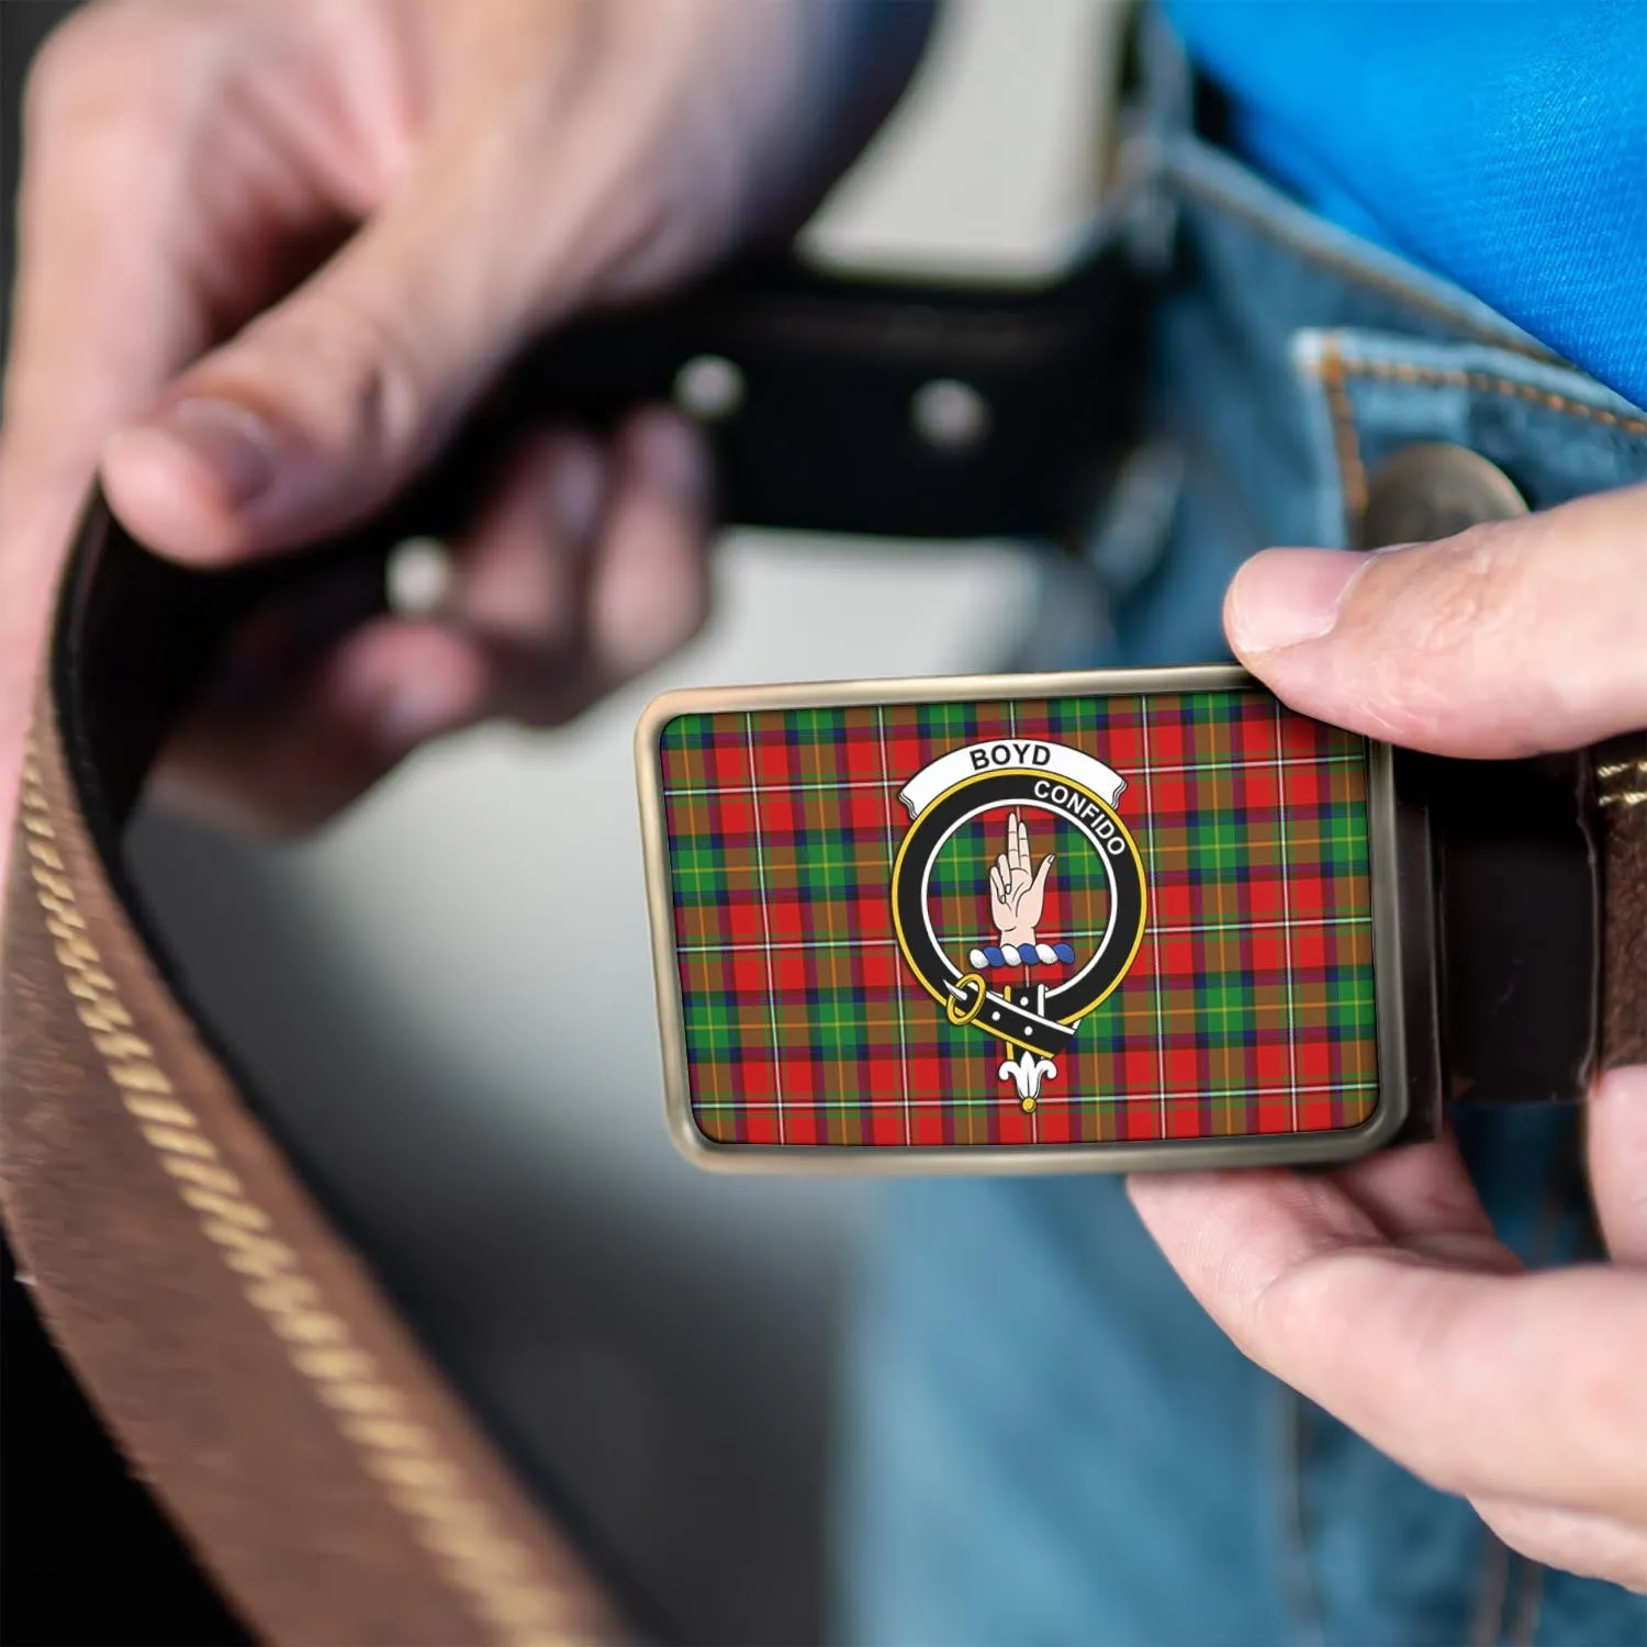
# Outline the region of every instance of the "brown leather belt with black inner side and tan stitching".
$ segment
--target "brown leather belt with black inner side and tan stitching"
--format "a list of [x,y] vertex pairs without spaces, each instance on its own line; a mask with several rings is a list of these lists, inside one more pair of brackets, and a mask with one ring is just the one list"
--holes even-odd
[[[1113,270],[1039,298],[782,270],[576,338],[529,362],[527,380],[601,415],[665,392],[693,354],[726,356],[763,408],[721,435],[733,517],[1044,534],[1079,519],[1123,446],[1113,408],[1130,397],[1090,404],[1080,385],[1127,359],[1128,313]],[[909,435],[911,394],[935,379],[987,395],[985,450]],[[1062,422],[1046,417],[1049,395]],[[461,509],[461,466],[488,440],[483,425],[460,471],[394,519],[245,573],[153,560],[94,502],[23,774],[0,996],[5,1227],[102,1421],[270,1640],[623,1634],[580,1548],[522,1491],[191,1013],[120,865],[143,774],[224,636],[305,576],[341,580],[364,609],[410,525]],[[1601,977],[1561,1052],[1571,1087],[1593,1069],[1598,1023],[1603,1062],[1647,1061],[1647,738],[1598,751],[1570,792],[1594,845],[1579,853],[1594,891],[1583,931],[1599,926]],[[1436,796],[1444,812],[1444,784]],[[1449,837],[1461,866],[1479,861],[1467,835]]]

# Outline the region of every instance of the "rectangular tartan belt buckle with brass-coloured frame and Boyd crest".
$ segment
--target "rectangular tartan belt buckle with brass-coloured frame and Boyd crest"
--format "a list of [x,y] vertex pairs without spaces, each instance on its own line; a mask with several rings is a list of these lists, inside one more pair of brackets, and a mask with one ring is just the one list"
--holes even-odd
[[1388,749],[1242,670],[679,692],[637,764],[705,1164],[1331,1161],[1407,1117]]

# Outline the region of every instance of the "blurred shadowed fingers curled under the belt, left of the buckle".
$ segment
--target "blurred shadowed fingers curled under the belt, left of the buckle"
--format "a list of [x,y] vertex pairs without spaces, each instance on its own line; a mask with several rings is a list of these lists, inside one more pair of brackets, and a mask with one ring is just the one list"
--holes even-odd
[[[460,545],[438,619],[380,619],[287,693],[198,716],[168,751],[161,799],[242,827],[308,828],[430,738],[489,715],[560,721],[647,667],[705,603],[708,460],[679,422],[639,413],[609,461],[581,435],[524,441]],[[636,611],[619,588],[603,614],[614,557],[619,570],[631,557],[660,611]]]

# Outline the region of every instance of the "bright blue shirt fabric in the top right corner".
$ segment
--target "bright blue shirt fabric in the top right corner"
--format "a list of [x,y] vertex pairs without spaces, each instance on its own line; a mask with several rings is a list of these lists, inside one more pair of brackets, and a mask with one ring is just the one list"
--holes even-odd
[[1647,405],[1647,5],[1166,10],[1248,161]]

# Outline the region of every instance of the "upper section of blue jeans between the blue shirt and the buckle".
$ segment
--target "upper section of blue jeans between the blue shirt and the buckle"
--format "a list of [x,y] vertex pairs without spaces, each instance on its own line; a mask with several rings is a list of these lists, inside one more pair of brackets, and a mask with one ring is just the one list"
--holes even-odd
[[1273,544],[1352,542],[1369,476],[1402,446],[1477,451],[1533,509],[1647,481],[1640,408],[1197,135],[1174,53],[1146,28],[1127,140],[1141,176],[1130,216],[1169,247],[1145,469],[1169,476],[1171,499],[1117,489],[1090,548],[1108,634],[1084,660],[1225,656],[1219,603],[1237,565]]

